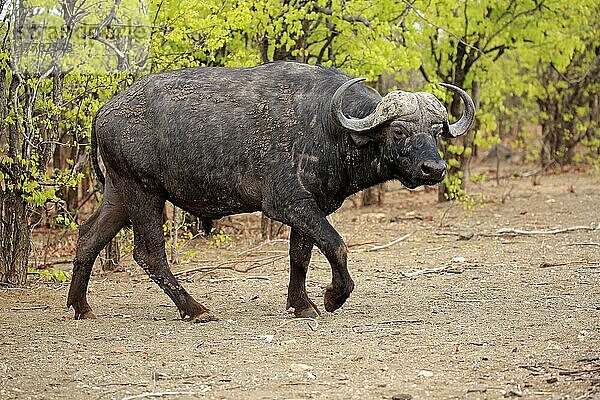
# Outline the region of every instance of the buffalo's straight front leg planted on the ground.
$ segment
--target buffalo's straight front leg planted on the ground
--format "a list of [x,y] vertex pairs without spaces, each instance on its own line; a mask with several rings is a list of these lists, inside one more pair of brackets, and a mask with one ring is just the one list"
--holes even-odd
[[287,308],[297,317],[314,318],[321,314],[306,294],[306,273],[312,253],[312,241],[292,228],[290,234],[290,284]]

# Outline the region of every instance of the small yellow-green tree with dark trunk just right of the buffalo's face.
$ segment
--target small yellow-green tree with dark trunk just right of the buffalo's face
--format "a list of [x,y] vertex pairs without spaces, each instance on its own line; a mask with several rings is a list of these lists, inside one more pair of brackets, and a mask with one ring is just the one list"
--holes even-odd
[[[431,83],[450,82],[471,92],[476,103],[480,102],[482,83],[489,81],[488,67],[501,57],[529,40],[546,0],[460,2],[448,6],[446,1],[414,3],[411,14],[413,23],[422,24],[421,45],[429,49],[423,52],[419,68],[423,77]],[[419,8],[422,6],[422,8]],[[536,32],[534,34],[537,35]],[[516,67],[516,66],[514,66]],[[514,71],[516,72],[516,70]],[[489,88],[490,91],[494,87]],[[478,112],[481,120],[482,113]],[[458,118],[461,114],[460,97],[453,94],[449,113]],[[483,116],[488,120],[487,115]],[[439,200],[445,201],[464,192],[469,161],[478,134],[487,133],[484,124],[472,129],[457,143],[442,142],[442,151],[449,158],[448,174],[440,185]]]

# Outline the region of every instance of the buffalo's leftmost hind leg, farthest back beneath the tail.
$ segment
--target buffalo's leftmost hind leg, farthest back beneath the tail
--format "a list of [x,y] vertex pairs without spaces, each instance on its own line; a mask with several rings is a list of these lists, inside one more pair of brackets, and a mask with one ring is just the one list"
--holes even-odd
[[121,196],[110,181],[106,182],[104,200],[92,216],[79,228],[77,251],[67,307],[75,309],[75,319],[95,318],[87,302],[87,287],[92,267],[100,251],[127,224],[128,217]]

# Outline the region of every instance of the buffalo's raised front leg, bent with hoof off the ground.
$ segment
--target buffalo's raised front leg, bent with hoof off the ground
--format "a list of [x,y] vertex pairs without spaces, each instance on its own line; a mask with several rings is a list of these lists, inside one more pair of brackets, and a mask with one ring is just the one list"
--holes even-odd
[[291,226],[292,231],[310,238],[325,255],[332,275],[331,284],[325,290],[325,309],[335,311],[340,308],[354,290],[354,282],[347,267],[348,248],[325,214],[311,200],[288,201],[283,210],[267,207],[266,212],[267,216]]

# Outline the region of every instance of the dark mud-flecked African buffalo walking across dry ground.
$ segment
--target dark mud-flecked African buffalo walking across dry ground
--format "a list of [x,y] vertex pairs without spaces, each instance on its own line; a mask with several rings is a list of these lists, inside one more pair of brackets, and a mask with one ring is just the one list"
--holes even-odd
[[345,198],[398,179],[415,188],[440,182],[446,163],[438,136],[464,134],[474,119],[471,98],[450,124],[431,94],[385,97],[363,79],[334,68],[292,62],[255,68],[189,68],[148,75],[96,115],[92,165],[104,198],[79,229],[68,306],[93,318],[86,298],[100,250],[128,224],[134,259],[177,305],[182,318],[214,319],[169,270],[162,211],[166,200],[203,220],[262,211],[291,227],[287,307],[312,317],[319,309],[305,288],[313,245],[325,255],[332,282],[325,309],[342,306],[354,282],[347,248],[326,216]]

